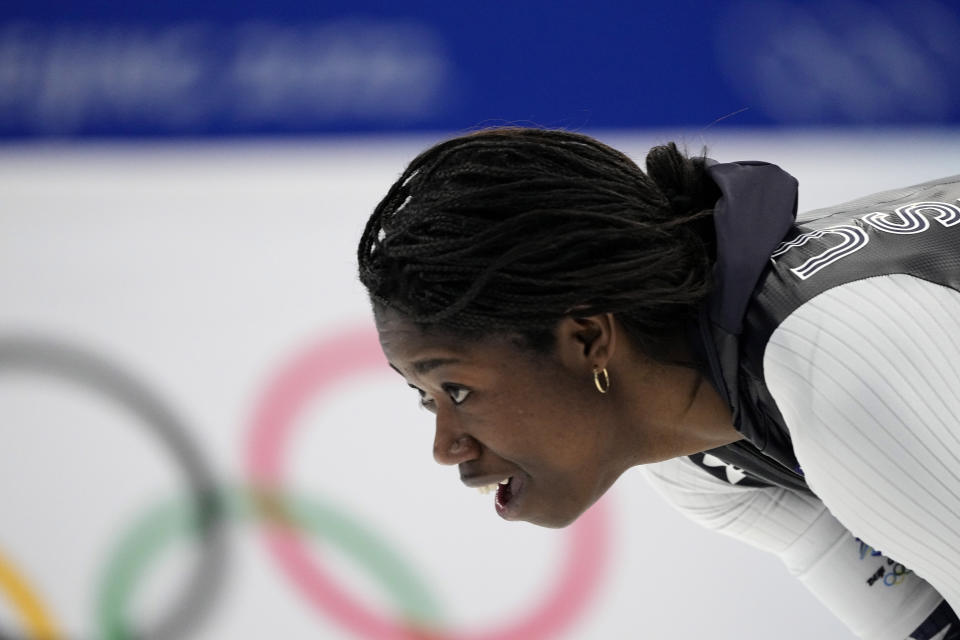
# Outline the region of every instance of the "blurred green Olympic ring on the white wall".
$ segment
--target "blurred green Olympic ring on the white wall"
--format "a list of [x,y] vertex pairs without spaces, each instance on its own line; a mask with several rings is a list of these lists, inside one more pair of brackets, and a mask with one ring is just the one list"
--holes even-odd
[[[413,570],[374,533],[330,506],[303,498],[258,495],[235,489],[221,503],[232,519],[266,518],[283,526],[296,525],[339,547],[380,579],[402,613],[415,624],[436,621],[439,606]],[[101,580],[98,619],[103,640],[124,640],[123,614],[134,584],[163,546],[176,536],[196,533],[182,502],[151,509],[123,536],[110,555]]]

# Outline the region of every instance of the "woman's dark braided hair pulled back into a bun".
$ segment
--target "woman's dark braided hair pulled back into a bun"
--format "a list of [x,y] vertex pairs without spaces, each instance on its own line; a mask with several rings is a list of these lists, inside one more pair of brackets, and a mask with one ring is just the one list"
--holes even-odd
[[442,142],[374,210],[360,280],[375,306],[422,328],[546,349],[564,316],[609,312],[656,355],[710,290],[720,192],[704,159],[673,143],[646,165],[565,131]]

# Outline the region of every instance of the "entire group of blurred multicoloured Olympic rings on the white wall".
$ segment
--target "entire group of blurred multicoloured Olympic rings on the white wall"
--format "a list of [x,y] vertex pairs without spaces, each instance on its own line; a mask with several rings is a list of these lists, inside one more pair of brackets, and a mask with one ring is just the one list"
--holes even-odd
[[[339,363],[334,371],[331,366]],[[344,366],[343,363],[348,363]],[[383,358],[371,331],[350,332],[321,342],[281,372],[271,384],[254,416],[255,429],[248,453],[255,493],[216,490],[210,472],[193,449],[186,430],[159,401],[130,376],[88,353],[39,339],[0,339],[0,372],[34,370],[78,382],[105,394],[157,431],[177,457],[189,478],[191,497],[151,510],[120,540],[106,566],[99,590],[97,624],[104,640],[180,636],[209,604],[213,588],[223,577],[224,516],[265,517],[270,525],[268,549],[281,568],[305,592],[309,601],[342,626],[363,637],[439,640],[519,640],[546,638],[562,631],[582,612],[599,582],[609,544],[608,523],[601,502],[570,529],[570,550],[556,586],[539,608],[523,620],[502,629],[478,633],[437,630],[439,610],[413,572],[373,534],[329,507],[303,499],[281,497],[279,454],[293,419],[323,387],[344,375],[382,369]],[[356,556],[384,583],[399,608],[395,621],[369,611],[334,585],[315,564],[297,532],[314,535]],[[133,630],[125,611],[148,561],[175,536],[192,533],[202,538],[204,553],[191,574],[189,587],[175,606],[150,631]],[[55,640],[61,636],[45,609],[13,568],[0,556],[0,589],[25,621],[31,637]],[[10,636],[0,630],[0,638]]]

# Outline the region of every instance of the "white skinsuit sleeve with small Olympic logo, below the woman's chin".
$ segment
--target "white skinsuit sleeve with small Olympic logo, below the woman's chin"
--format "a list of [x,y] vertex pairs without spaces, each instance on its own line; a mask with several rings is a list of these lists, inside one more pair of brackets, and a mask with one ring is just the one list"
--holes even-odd
[[929,584],[857,540],[808,495],[724,482],[687,458],[644,467],[695,522],[776,554],[853,633],[870,640],[945,640],[953,619]]

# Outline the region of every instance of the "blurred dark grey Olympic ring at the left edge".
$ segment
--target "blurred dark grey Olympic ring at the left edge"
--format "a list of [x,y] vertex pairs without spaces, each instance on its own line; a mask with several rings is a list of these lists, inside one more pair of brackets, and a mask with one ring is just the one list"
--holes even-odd
[[0,339],[0,371],[37,371],[89,387],[106,395],[151,428],[173,453],[187,476],[192,513],[201,531],[204,553],[189,586],[170,612],[150,631],[125,630],[124,637],[179,637],[195,622],[224,574],[226,547],[221,507],[212,474],[183,423],[144,386],[122,369],[66,344],[34,337]]

